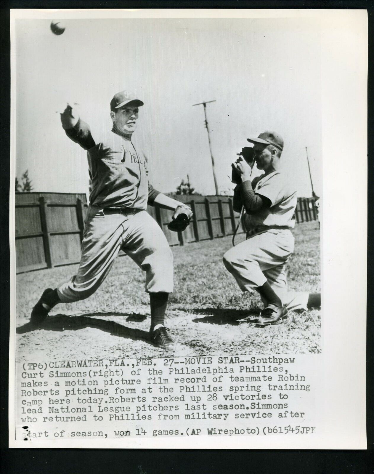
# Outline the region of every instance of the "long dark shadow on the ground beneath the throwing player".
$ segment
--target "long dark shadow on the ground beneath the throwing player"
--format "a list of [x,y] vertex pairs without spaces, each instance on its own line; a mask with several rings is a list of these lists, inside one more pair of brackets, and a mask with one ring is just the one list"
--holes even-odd
[[[94,313],[95,315],[105,316],[107,313]],[[109,313],[108,313],[109,315]],[[110,316],[116,316],[116,313],[110,313]],[[128,316],[126,319],[133,318],[134,316],[142,317],[144,320],[146,316],[144,315],[133,315],[133,314],[123,314],[121,316]],[[116,323],[114,321],[105,321],[103,319],[92,318],[91,313],[82,316],[67,316],[65,314],[57,314],[55,316],[48,316],[47,319],[37,328],[30,325],[30,323],[24,324],[16,329],[17,334],[25,334],[35,329],[44,329],[46,331],[77,331],[84,328],[97,328],[104,332],[109,332],[111,336],[124,337],[126,339],[132,339],[134,341],[142,340],[150,343],[149,333],[147,331],[142,331],[141,329],[128,328],[122,324]]]

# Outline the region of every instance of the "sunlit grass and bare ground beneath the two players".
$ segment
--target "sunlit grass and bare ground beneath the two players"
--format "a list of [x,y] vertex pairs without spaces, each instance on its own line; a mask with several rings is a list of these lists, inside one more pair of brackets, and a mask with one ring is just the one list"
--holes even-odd
[[[318,223],[297,224],[294,235],[289,288],[319,292]],[[166,325],[176,341],[174,353],[147,340],[145,275],[128,257],[117,259],[94,295],[56,306],[35,330],[27,322],[40,294],[70,279],[77,265],[17,275],[17,360],[320,352],[319,310],[290,312],[282,324],[265,328],[248,322],[261,301],[256,293],[242,293],[223,266],[222,255],[230,247],[231,237],[172,247],[175,288]]]

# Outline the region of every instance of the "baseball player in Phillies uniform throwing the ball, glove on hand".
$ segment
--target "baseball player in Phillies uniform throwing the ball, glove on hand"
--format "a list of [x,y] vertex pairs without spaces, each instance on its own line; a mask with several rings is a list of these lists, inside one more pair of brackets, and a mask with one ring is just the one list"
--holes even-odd
[[87,150],[90,204],[77,274],[54,290],[48,288],[43,292],[31,313],[30,323],[35,327],[42,324],[57,303],[83,300],[94,293],[122,248],[146,273],[152,343],[165,349],[173,346],[169,329],[164,326],[168,296],[173,292],[173,254],[163,231],[146,208],[151,204],[174,210],[172,230],[183,230],[192,210],[156,191],[148,182],[146,156],[131,141],[139,107],[143,105],[133,93],[115,94],[110,101],[112,129],[100,138],[91,136],[89,125],[69,104],[60,114],[66,135]]

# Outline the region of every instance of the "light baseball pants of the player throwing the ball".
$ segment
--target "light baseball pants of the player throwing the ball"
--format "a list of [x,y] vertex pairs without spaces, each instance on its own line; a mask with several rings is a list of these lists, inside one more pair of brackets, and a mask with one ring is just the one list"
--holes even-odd
[[146,292],[173,292],[173,254],[163,231],[145,210],[104,214],[89,206],[77,274],[57,288],[63,303],[94,293],[108,275],[119,250],[146,272]]

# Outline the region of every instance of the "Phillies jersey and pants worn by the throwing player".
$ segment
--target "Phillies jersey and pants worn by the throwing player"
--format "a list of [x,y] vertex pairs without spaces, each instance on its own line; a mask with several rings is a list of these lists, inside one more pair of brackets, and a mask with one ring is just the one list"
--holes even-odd
[[148,183],[146,156],[115,128],[99,141],[82,120],[65,132],[87,150],[92,191],[81,262],[77,274],[57,288],[60,300],[78,301],[95,292],[121,248],[146,272],[146,292],[173,292],[173,254],[146,212],[159,194]]

